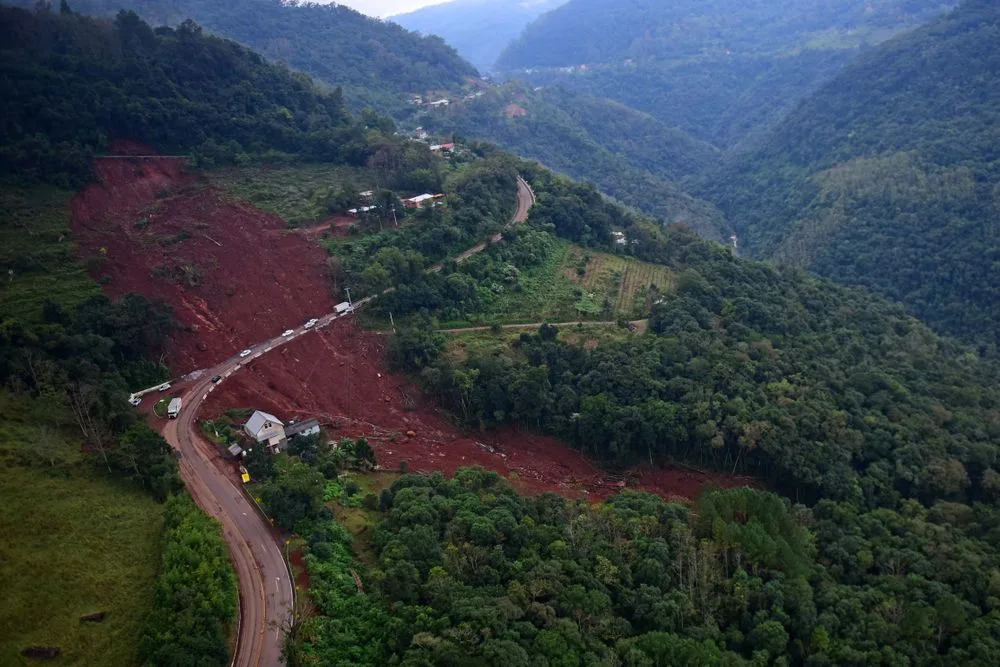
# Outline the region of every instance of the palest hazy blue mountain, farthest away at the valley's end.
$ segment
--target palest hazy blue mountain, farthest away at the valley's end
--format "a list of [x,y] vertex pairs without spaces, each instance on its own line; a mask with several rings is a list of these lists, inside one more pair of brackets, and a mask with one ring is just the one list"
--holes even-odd
[[566,0],[453,0],[390,17],[408,30],[438,35],[481,71],[526,25]]

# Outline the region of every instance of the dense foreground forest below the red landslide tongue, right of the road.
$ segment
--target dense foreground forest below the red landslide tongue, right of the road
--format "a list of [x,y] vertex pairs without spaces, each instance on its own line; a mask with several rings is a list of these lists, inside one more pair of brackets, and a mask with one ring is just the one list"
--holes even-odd
[[592,506],[480,469],[406,475],[382,494],[367,572],[343,528],[313,529],[321,613],[290,664],[988,664],[1000,578],[955,583],[1000,563],[975,527],[995,508],[979,512],[810,511],[752,489]]

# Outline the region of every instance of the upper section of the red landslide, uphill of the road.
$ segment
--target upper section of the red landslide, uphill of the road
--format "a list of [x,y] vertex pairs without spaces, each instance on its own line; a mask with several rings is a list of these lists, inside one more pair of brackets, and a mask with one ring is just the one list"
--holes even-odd
[[175,375],[333,310],[325,253],[278,216],[226,201],[181,159],[94,168],[99,182],[72,203],[81,253],[102,260],[95,275],[110,278],[109,296],[137,292],[173,307]]

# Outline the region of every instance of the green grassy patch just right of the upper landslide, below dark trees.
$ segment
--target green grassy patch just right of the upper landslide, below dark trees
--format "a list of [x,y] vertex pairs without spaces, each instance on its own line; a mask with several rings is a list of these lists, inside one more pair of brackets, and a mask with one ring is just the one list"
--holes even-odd
[[239,167],[207,175],[233,198],[275,213],[293,227],[328,217],[327,199],[343,184],[357,191],[371,189],[373,185],[368,170],[332,165]]

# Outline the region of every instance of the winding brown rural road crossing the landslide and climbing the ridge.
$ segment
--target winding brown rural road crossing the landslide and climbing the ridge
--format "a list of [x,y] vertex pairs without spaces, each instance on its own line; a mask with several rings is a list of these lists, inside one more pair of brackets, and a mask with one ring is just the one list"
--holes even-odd
[[[527,182],[518,176],[517,211],[510,224],[528,219],[528,211],[535,203],[535,193]],[[496,234],[491,242],[501,241]],[[481,252],[480,244],[456,257],[462,262]],[[429,271],[440,271],[441,265]],[[361,308],[374,299],[369,296],[354,302],[354,309]],[[332,321],[350,313],[329,313],[318,318],[314,328],[321,329]],[[282,664],[282,633],[288,628],[295,601],[295,583],[282,552],[282,545],[270,524],[257,512],[243,490],[226,473],[215,465],[216,447],[207,442],[198,426],[198,408],[216,384],[215,376],[222,381],[249,363],[276,347],[309,333],[304,326],[293,330],[287,337],[277,336],[250,346],[246,358],[231,357],[213,368],[202,371],[198,379],[181,396],[183,407],[177,419],[170,420],[163,429],[163,437],[175,451],[180,452],[181,478],[195,502],[222,524],[223,536],[229,545],[233,565],[239,578],[240,618],[233,667],[278,667]]]

